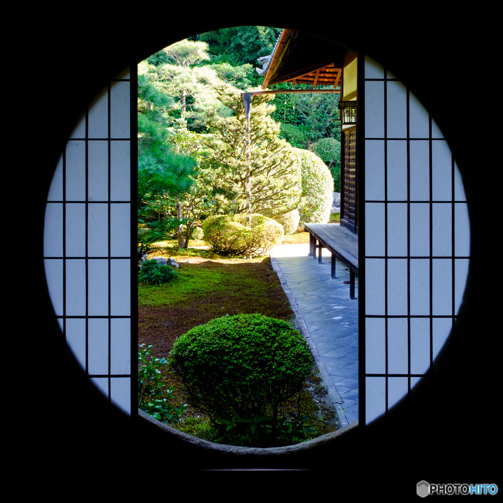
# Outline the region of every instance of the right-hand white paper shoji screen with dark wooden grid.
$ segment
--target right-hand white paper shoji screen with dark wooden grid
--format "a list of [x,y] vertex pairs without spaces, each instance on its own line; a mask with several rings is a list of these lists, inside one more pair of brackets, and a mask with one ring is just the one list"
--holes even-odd
[[368,424],[410,392],[453,330],[470,229],[461,176],[432,117],[368,57],[360,83]]

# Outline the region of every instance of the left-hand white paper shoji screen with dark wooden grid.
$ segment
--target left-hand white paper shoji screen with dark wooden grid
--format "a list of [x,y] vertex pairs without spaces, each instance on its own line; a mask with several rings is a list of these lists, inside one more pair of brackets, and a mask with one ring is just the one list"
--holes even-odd
[[49,190],[44,225],[46,278],[66,343],[86,376],[128,414],[130,103],[127,69],[90,103],[68,138]]

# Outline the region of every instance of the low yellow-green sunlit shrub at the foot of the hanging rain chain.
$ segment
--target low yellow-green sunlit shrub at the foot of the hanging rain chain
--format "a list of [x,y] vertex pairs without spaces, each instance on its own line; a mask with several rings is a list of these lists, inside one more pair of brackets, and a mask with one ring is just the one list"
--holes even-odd
[[246,214],[215,215],[203,222],[204,239],[217,253],[225,255],[262,255],[281,244],[283,226],[269,217],[251,215],[251,229]]

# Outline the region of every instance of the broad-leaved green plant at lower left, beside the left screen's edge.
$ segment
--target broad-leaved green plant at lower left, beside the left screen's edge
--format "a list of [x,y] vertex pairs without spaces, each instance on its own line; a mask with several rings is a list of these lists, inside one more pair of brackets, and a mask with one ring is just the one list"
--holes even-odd
[[165,390],[159,367],[167,363],[165,358],[155,358],[150,348],[139,344],[138,347],[138,408],[144,410],[156,420],[166,424],[177,424],[187,408],[187,404],[176,407],[173,405],[173,388]]

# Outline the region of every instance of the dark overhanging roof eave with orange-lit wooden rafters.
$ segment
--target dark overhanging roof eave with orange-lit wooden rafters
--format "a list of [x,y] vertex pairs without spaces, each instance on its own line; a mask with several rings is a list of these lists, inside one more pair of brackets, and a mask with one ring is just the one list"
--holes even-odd
[[269,57],[262,89],[280,82],[336,88],[341,81],[346,52],[347,49],[337,44],[284,29]]

